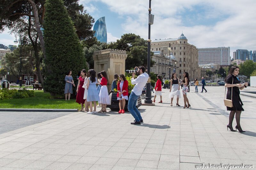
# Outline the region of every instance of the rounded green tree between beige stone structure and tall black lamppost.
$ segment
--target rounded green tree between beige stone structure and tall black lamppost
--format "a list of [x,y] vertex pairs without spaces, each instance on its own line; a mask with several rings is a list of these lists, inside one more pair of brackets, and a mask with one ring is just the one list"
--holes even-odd
[[[108,44],[108,48],[125,50],[127,53],[127,58],[125,61],[125,69],[129,70],[135,66],[143,65],[148,66],[148,43],[139,35],[132,33],[122,35],[120,40],[116,42],[111,42]],[[152,60],[153,52],[150,53],[151,62],[150,67],[154,65]]]

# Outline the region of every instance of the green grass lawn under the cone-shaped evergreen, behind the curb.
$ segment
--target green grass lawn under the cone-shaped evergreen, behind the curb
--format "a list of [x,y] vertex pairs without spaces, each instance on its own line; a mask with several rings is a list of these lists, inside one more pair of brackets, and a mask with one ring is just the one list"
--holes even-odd
[[81,105],[76,99],[53,99],[50,93],[36,90],[35,97],[0,100],[0,108],[81,109]]

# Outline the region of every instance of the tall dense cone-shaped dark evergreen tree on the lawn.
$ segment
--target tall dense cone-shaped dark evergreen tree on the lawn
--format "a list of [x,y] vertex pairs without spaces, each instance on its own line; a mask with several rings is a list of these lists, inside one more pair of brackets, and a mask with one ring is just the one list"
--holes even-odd
[[[66,72],[86,69],[82,45],[62,0],[46,0],[44,39],[46,72],[44,88],[51,95],[63,94]],[[74,78],[74,81],[77,81]]]

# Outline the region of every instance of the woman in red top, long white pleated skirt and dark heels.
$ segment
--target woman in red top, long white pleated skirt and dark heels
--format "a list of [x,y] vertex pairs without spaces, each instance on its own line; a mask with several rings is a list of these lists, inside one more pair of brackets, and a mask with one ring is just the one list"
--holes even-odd
[[110,104],[110,100],[109,100],[109,96],[108,96],[108,76],[107,76],[107,72],[106,71],[101,71],[100,72],[100,79],[98,79],[98,83],[100,83],[101,87],[100,87],[100,100],[99,103],[101,103],[101,110],[99,111],[99,113],[101,112],[107,112],[106,108],[107,108],[107,104]]

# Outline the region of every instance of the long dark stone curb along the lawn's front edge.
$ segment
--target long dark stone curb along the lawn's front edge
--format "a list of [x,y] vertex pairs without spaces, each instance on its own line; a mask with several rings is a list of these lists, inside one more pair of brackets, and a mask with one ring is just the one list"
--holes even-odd
[[12,109],[0,108],[0,112],[78,112],[78,109]]

